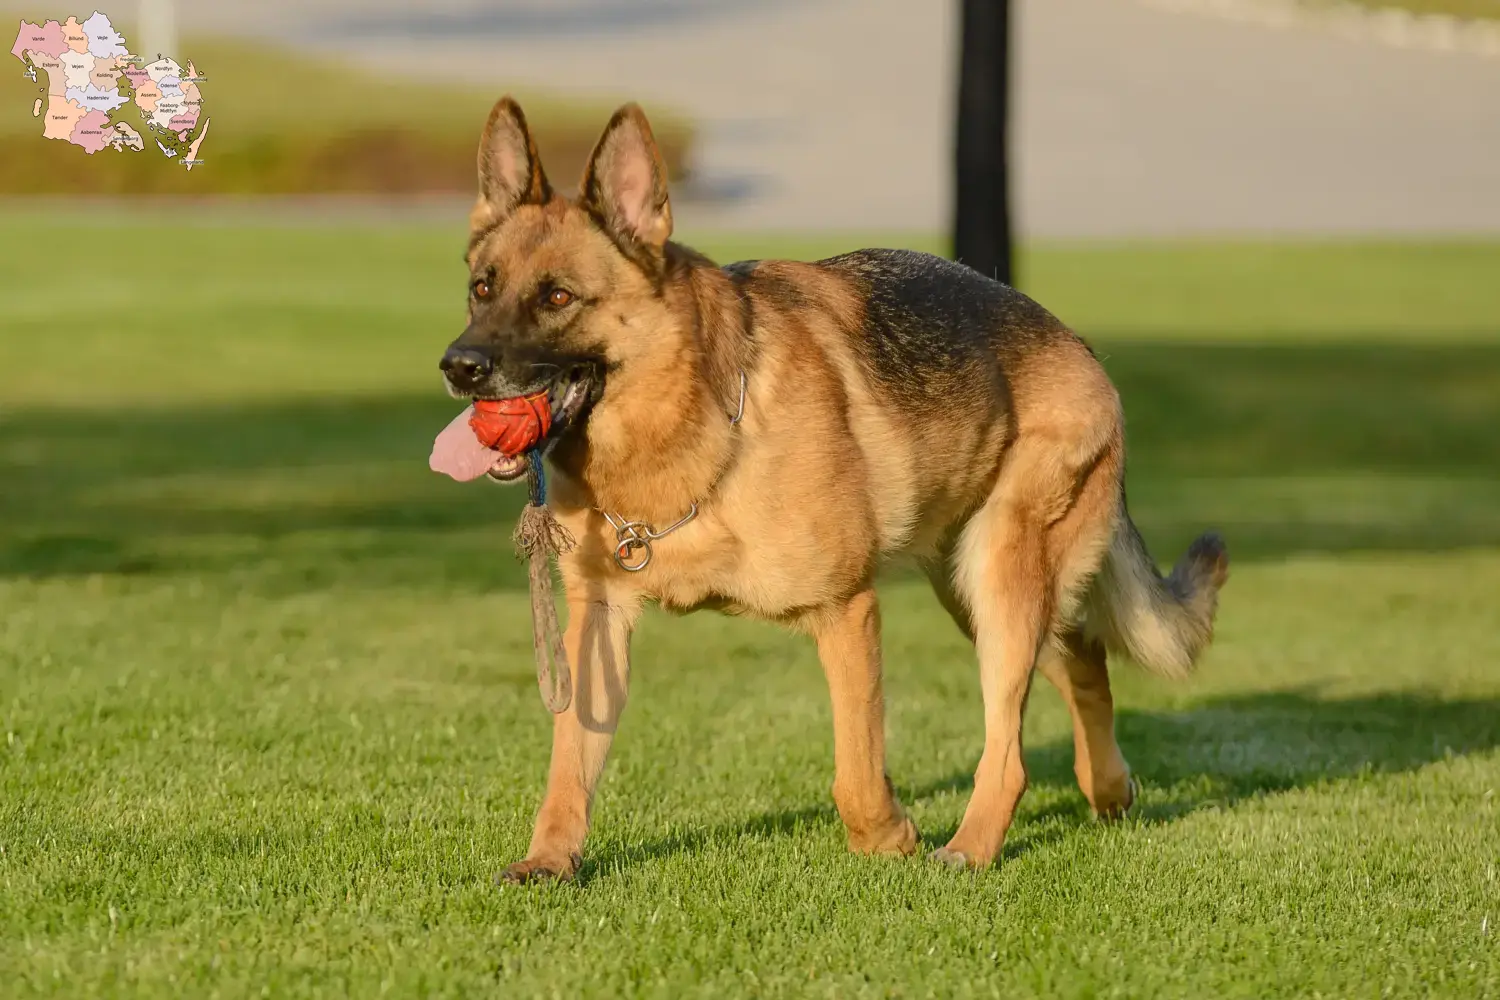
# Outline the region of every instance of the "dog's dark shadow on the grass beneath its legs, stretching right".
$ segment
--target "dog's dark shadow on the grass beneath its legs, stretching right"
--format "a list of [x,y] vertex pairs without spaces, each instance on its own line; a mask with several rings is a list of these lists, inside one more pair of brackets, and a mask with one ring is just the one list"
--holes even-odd
[[[1180,712],[1125,709],[1116,717],[1120,747],[1143,795],[1128,823],[1162,826],[1204,808],[1233,808],[1262,796],[1360,775],[1394,775],[1500,747],[1500,697],[1442,699],[1425,693],[1382,693],[1324,699],[1312,688],[1239,694],[1202,702]],[[1022,811],[1011,826],[1002,861],[1058,844],[1095,825],[1072,777],[1072,742],[1026,750],[1032,798],[1041,789],[1066,789],[1041,808]],[[906,805],[974,789],[974,772],[958,771],[926,783],[900,784]],[[642,862],[694,853],[742,838],[796,837],[808,826],[837,825],[831,801],[765,813],[741,822],[670,834],[608,850],[585,862],[590,879]],[[942,846],[956,825],[921,831],[922,850]]]

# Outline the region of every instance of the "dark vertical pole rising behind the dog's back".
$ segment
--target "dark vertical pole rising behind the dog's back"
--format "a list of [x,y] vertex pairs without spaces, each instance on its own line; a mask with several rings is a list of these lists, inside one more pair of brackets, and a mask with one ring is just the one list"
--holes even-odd
[[1011,283],[1010,0],[960,0],[954,256]]

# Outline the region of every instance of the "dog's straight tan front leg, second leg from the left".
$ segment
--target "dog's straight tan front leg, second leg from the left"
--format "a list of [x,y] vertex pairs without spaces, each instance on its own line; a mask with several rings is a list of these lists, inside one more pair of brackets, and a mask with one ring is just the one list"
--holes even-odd
[[834,804],[849,850],[910,855],[916,828],[885,772],[885,694],[880,684],[880,609],[874,591],[813,618],[818,655],[834,712]]

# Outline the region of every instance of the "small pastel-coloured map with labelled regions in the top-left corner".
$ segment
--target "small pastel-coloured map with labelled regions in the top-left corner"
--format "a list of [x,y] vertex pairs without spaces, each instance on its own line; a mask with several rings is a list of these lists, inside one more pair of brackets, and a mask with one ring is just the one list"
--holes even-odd
[[[10,54],[26,66],[27,79],[38,85],[32,117],[42,118],[42,135],[82,147],[86,153],[112,150],[144,150],[150,138],[164,156],[188,169],[202,163],[198,153],[208,135],[208,117],[202,114],[204,78],[188,61],[158,55],[147,63],[130,52],[124,36],[114,30],[110,18],[93,12],[80,22],[21,21]],[[140,115],[146,138],[122,112]]]

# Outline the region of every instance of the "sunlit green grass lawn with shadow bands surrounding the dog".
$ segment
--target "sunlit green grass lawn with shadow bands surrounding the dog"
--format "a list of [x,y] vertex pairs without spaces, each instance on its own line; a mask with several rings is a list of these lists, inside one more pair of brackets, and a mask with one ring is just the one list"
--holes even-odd
[[[549,720],[519,496],[426,469],[462,234],[144,219],[0,219],[0,996],[1500,994],[1500,246],[1026,255],[1156,555],[1236,558],[1194,681],[1114,673],[1131,819],[1038,685],[998,868],[848,856],[812,645],[651,615],[579,882],[498,889]],[[976,670],[885,594],[936,846]]]

